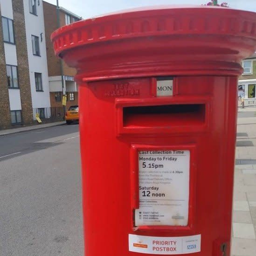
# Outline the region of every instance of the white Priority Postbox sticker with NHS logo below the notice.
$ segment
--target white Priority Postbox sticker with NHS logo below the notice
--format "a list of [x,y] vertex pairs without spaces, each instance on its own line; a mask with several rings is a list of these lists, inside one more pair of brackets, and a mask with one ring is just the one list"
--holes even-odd
[[129,234],[129,251],[165,255],[200,252],[201,235],[158,237]]

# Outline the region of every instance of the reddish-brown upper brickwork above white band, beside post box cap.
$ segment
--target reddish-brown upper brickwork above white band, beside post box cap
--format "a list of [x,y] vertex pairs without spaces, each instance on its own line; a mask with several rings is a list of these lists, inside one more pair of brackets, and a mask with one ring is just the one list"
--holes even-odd
[[[51,34],[57,29],[57,13],[56,6],[43,1],[43,15],[45,26],[45,40],[46,40],[46,52],[47,52],[47,64],[49,76],[61,75],[60,59],[55,57],[53,45],[50,40]],[[65,13],[60,11],[60,25],[65,25]],[[63,62],[63,75],[75,76],[76,69],[69,68],[66,63]]]

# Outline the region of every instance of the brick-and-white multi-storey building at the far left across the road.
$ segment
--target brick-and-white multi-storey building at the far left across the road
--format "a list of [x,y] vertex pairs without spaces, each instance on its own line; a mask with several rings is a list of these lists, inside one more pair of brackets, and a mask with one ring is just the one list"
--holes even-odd
[[42,0],[0,0],[0,129],[50,107]]

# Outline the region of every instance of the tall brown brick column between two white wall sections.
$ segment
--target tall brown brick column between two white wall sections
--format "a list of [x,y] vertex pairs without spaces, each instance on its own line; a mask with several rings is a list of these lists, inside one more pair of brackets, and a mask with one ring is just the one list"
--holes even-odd
[[28,68],[28,51],[25,30],[23,0],[12,0],[14,12],[14,35],[18,61],[19,86],[21,90],[21,109],[24,125],[33,122],[33,110]]

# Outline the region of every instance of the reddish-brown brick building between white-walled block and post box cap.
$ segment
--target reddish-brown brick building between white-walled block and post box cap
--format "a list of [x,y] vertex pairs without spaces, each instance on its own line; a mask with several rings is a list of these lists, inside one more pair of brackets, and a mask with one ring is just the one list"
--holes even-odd
[[[78,105],[78,86],[74,81],[76,70],[69,68],[61,59],[55,57],[50,35],[58,28],[56,6],[43,1],[46,49],[48,60],[50,103],[52,107],[62,112],[62,96],[67,95],[67,109],[71,105]],[[76,14],[60,7],[60,27],[81,18]]]

